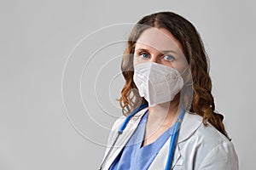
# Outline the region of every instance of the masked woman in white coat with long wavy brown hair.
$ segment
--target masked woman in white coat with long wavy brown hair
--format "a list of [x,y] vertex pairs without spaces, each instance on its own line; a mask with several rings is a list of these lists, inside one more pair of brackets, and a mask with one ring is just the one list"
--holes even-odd
[[214,112],[207,54],[188,20],[143,17],[121,69],[125,116],[113,125],[100,169],[238,169],[224,117]]

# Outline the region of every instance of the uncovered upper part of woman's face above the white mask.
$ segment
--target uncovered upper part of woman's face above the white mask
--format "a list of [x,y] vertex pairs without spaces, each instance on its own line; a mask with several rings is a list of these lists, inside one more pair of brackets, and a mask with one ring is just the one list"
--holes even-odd
[[187,68],[183,47],[165,28],[148,28],[143,31],[135,46],[133,66],[155,62],[172,67],[182,73]]

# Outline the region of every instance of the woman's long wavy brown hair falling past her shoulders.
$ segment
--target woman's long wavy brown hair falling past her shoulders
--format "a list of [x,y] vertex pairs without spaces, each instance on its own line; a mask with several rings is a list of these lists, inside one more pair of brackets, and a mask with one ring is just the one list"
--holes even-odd
[[133,82],[133,54],[137,39],[149,27],[165,28],[181,43],[193,79],[193,96],[189,111],[201,115],[205,126],[210,122],[228,138],[223,123],[224,116],[215,112],[208,58],[201,37],[189,20],[172,12],[147,15],[139,20],[131,31],[121,64],[125,86],[121,91],[119,105],[123,114],[128,115],[138,105],[146,102],[139,96]]

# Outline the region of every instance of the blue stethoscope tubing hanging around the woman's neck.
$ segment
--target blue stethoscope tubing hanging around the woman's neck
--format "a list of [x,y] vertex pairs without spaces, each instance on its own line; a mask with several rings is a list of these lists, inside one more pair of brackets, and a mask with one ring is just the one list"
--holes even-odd
[[[114,144],[119,139],[119,136],[124,132],[125,127],[127,126],[129,121],[131,120],[131,117],[135,116],[138,111],[141,111],[141,110],[143,110],[146,107],[148,107],[148,103],[140,105],[135,110],[133,110],[128,116],[126,116],[125,121],[123,122],[122,126],[119,128],[118,135],[114,139],[113,144],[111,145],[110,149],[108,150],[108,154],[103,159],[101,167],[99,167],[99,170],[102,169],[103,165],[105,164],[105,161],[107,161],[108,156],[110,155],[111,151],[113,150]],[[182,110],[181,110],[181,112],[180,112],[180,114],[179,114],[179,116],[177,118],[177,121],[173,125],[172,138],[171,138],[171,142],[170,142],[170,146],[169,146],[169,153],[168,153],[168,158],[167,158],[167,161],[166,161],[166,168],[165,168],[165,170],[170,170],[171,169],[172,157],[173,157],[173,153],[174,153],[175,146],[176,146],[176,143],[177,143],[177,135],[178,135],[178,132],[179,132],[179,128],[180,128],[181,122],[183,121],[184,113],[185,113],[184,108],[182,108]]]

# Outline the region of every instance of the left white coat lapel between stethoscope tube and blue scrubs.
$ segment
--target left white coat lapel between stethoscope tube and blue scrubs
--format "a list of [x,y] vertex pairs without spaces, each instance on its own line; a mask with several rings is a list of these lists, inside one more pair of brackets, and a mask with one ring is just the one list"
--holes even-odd
[[108,161],[106,161],[106,165],[104,166],[104,169],[109,169],[114,159],[119,155],[120,151],[124,148],[125,144],[131,138],[131,135],[136,130],[138,123],[140,122],[142,116],[147,110],[148,108],[145,108],[142,111],[138,111],[137,114],[131,118],[130,122],[125,127],[124,132],[119,136],[119,139],[117,140],[115,146],[113,147],[113,150],[108,156]]

